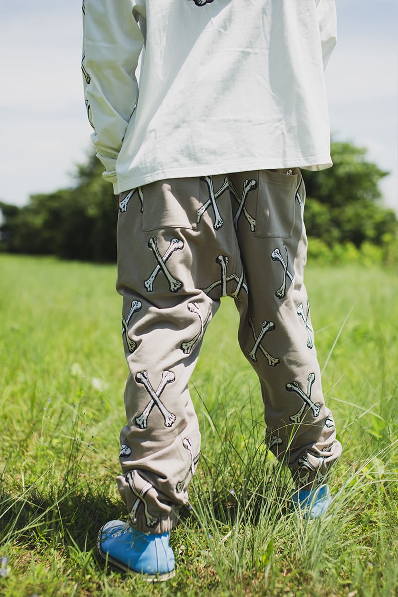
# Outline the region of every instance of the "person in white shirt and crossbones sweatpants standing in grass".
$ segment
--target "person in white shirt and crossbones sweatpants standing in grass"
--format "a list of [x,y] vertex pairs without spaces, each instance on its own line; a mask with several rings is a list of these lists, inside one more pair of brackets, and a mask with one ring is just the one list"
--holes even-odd
[[85,0],[83,13],[92,141],[119,195],[129,367],[117,478],[128,522],[105,524],[98,550],[165,580],[199,460],[187,384],[223,296],[239,310],[267,446],[297,486],[292,503],[315,517],[331,502],[326,475],[341,444],[303,281],[301,170],[332,165],[323,70],[335,4]]

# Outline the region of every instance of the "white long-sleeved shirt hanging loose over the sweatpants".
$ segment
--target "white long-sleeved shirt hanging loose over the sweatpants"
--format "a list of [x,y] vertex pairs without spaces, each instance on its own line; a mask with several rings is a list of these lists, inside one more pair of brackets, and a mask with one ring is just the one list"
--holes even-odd
[[92,141],[115,193],[331,165],[334,0],[84,0],[83,13]]

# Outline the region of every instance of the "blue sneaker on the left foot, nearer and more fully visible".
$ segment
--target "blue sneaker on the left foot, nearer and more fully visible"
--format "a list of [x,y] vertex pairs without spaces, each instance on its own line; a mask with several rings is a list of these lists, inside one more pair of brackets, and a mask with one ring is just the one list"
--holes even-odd
[[128,523],[110,521],[100,528],[98,553],[124,571],[143,574],[148,581],[168,580],[175,574],[170,533],[162,535],[135,531]]

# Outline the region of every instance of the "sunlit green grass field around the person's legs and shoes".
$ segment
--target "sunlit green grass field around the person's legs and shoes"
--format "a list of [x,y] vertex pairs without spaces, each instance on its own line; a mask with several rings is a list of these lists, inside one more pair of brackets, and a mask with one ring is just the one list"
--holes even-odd
[[[0,256],[0,594],[391,597],[398,591],[398,277],[307,267],[323,390],[344,452],[330,515],[289,512],[255,374],[224,300],[190,390],[202,457],[172,533],[175,578],[106,570],[127,366],[115,268]],[[217,371],[214,359],[218,361]]]

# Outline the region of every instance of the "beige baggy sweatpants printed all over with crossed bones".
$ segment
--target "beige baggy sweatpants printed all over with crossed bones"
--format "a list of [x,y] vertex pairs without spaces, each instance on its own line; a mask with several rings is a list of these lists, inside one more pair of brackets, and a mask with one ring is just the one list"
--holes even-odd
[[200,433],[187,384],[222,296],[239,310],[239,344],[260,380],[270,450],[300,487],[323,482],[340,456],[303,283],[304,199],[298,168],[122,193],[117,290],[129,376],[117,481],[138,530],[168,531],[188,500]]

